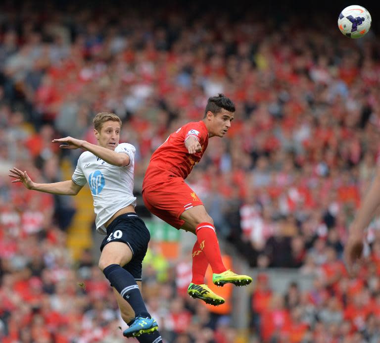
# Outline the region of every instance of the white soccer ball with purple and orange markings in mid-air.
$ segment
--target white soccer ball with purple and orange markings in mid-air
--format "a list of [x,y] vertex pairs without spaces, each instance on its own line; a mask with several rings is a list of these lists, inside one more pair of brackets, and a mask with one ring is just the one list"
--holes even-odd
[[363,37],[371,27],[371,14],[364,7],[351,5],[344,8],[338,18],[340,32],[349,38]]

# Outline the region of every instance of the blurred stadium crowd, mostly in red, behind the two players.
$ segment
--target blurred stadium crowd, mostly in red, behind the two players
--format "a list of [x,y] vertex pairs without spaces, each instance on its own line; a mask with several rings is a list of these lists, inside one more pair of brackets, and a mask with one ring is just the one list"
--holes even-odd
[[[61,181],[60,161],[74,166],[80,151],[63,154],[51,139],[96,143],[92,119],[110,111],[123,120],[121,142],[136,147],[139,194],[154,149],[202,119],[217,93],[235,101],[235,119],[227,138],[210,140],[189,184],[220,239],[251,267],[316,277],[308,292],[295,283],[276,294],[261,273],[245,340],[380,342],[380,213],[355,280],[342,262],[379,159],[380,43],[373,32],[359,41],[337,28],[326,35],[329,16],[312,26],[276,20],[191,4],[1,7],[1,342],[125,341],[91,254],[73,261],[66,248],[71,199],[10,184],[9,167]],[[170,263],[165,277],[149,264],[145,273],[147,304],[167,342],[240,342],[229,316],[181,295]]]

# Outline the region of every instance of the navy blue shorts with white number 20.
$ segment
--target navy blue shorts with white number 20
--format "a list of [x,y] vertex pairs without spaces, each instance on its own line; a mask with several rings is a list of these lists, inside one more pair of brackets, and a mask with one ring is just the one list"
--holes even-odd
[[123,242],[132,250],[132,259],[123,268],[129,271],[136,281],[141,281],[142,260],[145,257],[150,234],[142,219],[134,212],[116,217],[107,227],[107,237],[100,245],[100,251],[111,242]]

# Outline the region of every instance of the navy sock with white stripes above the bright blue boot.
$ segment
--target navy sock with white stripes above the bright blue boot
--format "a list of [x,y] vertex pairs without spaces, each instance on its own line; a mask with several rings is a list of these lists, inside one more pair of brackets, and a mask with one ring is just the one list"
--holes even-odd
[[104,268],[103,273],[117,292],[129,302],[136,317],[150,318],[144,300],[142,300],[139,286],[137,286],[135,278],[130,272],[118,264],[110,264]]

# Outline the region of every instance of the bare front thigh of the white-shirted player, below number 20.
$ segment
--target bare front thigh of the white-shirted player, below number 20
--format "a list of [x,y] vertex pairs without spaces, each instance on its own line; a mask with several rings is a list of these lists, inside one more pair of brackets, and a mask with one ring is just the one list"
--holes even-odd
[[99,268],[103,270],[110,264],[124,266],[131,261],[132,257],[133,253],[129,245],[124,242],[110,242],[101,251]]

